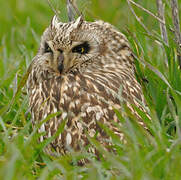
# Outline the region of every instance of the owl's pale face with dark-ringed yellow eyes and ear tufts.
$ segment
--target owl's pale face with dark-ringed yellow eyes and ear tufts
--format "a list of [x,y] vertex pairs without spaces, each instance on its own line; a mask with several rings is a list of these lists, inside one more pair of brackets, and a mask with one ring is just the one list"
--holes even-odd
[[56,16],[45,30],[37,54],[46,69],[66,74],[106,50],[98,24],[83,21],[59,22]]

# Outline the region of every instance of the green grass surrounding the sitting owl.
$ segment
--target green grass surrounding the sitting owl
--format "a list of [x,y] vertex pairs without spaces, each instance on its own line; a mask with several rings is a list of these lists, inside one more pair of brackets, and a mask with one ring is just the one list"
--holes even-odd
[[[122,144],[102,126],[112,137],[117,154],[106,152],[99,142],[91,138],[91,144],[102,154],[100,161],[86,151],[72,152],[60,158],[43,153],[43,147],[51,139],[37,143],[40,135],[32,130],[22,78],[53,12],[45,0],[0,0],[0,179],[180,179],[181,71],[178,68],[177,45],[173,32],[169,30],[173,27],[169,1],[164,1],[168,46],[161,39],[157,20],[134,8],[151,35],[146,33],[131,14],[126,1],[79,2],[87,20],[108,21],[128,37],[137,56],[137,76],[152,121],[135,109],[152,136],[135,123],[134,117],[124,107],[128,118],[123,119],[119,112],[116,113],[123,124],[120,128],[127,144]],[[135,2],[156,14],[154,0]],[[66,21],[65,1],[54,0],[52,3],[61,11],[62,21]],[[165,65],[166,59],[168,66]],[[88,158],[91,163],[77,166],[76,160],[82,157]]]

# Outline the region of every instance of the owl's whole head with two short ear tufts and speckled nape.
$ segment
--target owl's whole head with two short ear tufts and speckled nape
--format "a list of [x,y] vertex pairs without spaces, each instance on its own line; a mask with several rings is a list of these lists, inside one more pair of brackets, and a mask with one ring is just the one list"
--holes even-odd
[[46,70],[66,74],[85,63],[96,63],[101,56],[118,57],[125,47],[129,48],[125,36],[109,23],[87,22],[82,16],[63,23],[54,16],[42,35],[37,56]]

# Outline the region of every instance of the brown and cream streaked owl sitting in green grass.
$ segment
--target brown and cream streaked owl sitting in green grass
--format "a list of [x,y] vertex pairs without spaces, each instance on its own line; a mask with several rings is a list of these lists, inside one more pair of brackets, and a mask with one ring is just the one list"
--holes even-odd
[[145,102],[128,40],[100,20],[87,22],[80,16],[63,23],[54,16],[29,67],[27,89],[33,127],[60,112],[41,124],[41,142],[54,136],[66,119],[61,133],[45,148],[49,153],[63,155],[89,146],[88,151],[96,154],[88,136],[107,148],[111,138],[100,124],[124,140],[115,126],[121,125],[114,112],[121,112],[120,99],[144,126],[132,108],[134,104],[143,109],[140,102]]

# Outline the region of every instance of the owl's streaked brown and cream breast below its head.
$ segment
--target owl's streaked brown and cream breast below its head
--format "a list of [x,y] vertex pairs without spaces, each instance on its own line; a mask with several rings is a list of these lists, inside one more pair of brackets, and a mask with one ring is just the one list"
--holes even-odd
[[29,81],[32,81],[29,86],[29,103],[34,124],[49,114],[61,112],[42,124],[39,132],[46,132],[46,135],[41,136],[40,141],[54,135],[62,120],[67,119],[63,132],[52,142],[56,151],[61,153],[66,151],[67,145],[78,150],[79,142],[82,145],[89,144],[86,133],[93,137],[98,132],[98,140],[106,143],[107,134],[99,123],[123,138],[123,134],[112,122],[120,123],[114,113],[114,108],[121,109],[120,86],[123,87],[122,96],[128,103],[131,100],[133,102],[131,93],[136,94],[140,88],[133,76],[111,69],[87,70],[41,81],[30,77]]

